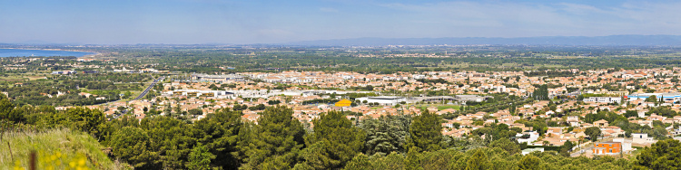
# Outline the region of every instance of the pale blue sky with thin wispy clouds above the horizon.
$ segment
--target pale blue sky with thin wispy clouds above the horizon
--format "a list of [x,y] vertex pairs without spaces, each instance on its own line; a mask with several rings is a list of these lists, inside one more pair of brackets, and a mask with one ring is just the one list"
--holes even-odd
[[681,1],[4,0],[0,42],[280,43],[670,34]]

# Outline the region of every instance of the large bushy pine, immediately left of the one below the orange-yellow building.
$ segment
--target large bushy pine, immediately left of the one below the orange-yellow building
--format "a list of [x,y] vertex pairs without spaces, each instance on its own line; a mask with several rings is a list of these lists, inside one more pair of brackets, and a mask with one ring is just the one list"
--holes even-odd
[[241,145],[248,156],[242,168],[288,169],[298,162],[305,129],[292,115],[292,109],[281,106],[262,111],[258,125],[251,127],[251,140]]

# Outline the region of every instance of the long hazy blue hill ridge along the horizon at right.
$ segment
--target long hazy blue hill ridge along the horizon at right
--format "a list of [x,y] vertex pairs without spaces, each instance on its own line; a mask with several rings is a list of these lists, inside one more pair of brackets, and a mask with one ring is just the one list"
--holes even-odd
[[681,45],[681,35],[544,36],[522,38],[355,38],[287,42],[306,46],[384,46],[384,45]]

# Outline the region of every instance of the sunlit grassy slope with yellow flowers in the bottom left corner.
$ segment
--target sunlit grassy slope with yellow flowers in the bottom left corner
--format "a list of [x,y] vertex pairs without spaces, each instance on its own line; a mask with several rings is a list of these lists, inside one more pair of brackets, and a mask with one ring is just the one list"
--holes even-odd
[[[125,169],[104,154],[94,137],[69,129],[39,133],[5,133],[0,142],[0,169],[28,169],[35,151],[37,169]],[[12,153],[10,154],[11,146]]]

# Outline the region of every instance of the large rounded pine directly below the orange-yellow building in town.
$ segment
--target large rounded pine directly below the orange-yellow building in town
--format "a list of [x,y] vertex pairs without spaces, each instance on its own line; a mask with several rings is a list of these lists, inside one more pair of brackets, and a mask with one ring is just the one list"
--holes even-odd
[[366,133],[353,127],[342,112],[330,111],[312,123],[314,133],[305,138],[310,147],[301,154],[308,165],[316,169],[342,168],[361,152]]

